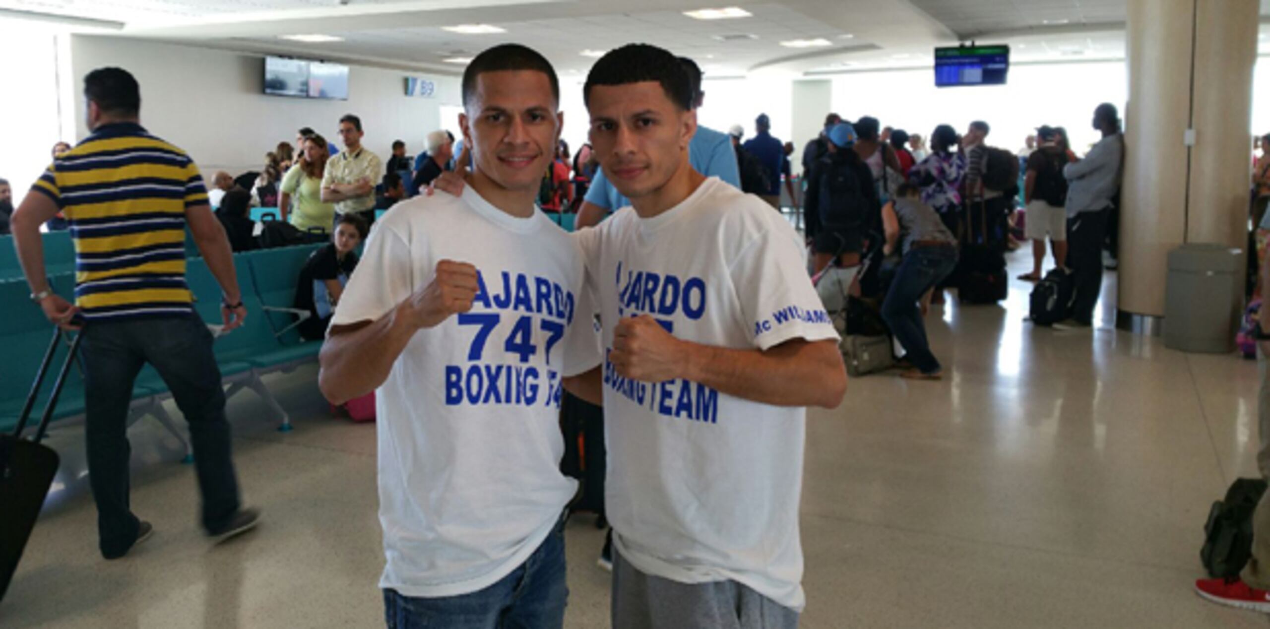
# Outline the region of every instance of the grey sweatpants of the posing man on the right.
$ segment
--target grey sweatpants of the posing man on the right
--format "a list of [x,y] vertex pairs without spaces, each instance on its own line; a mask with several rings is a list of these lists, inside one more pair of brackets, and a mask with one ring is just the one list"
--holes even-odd
[[796,629],[798,612],[735,581],[645,574],[613,548],[613,629]]

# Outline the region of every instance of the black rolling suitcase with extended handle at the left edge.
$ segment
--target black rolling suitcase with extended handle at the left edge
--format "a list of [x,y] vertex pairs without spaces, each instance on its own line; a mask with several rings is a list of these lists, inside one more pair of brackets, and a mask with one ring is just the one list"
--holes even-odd
[[30,386],[30,394],[22,407],[22,414],[18,416],[18,427],[14,428],[13,435],[0,435],[0,504],[4,504],[4,516],[0,517],[0,600],[4,600],[13,574],[18,571],[18,560],[22,559],[22,551],[27,548],[30,530],[36,526],[36,518],[39,517],[39,508],[44,504],[48,488],[57,474],[57,452],[41,445],[39,441],[44,438],[44,432],[48,429],[48,421],[53,417],[53,409],[57,408],[57,398],[62,393],[62,385],[66,384],[66,375],[70,372],[71,363],[75,362],[75,353],[79,351],[83,338],[83,334],[77,334],[71,342],[70,353],[67,353],[66,362],[62,363],[57,380],[53,382],[53,390],[48,395],[48,403],[39,418],[34,438],[23,440],[22,432],[27,427],[32,407],[36,405],[36,399],[39,396],[44,375],[62,342],[61,329],[53,333],[53,341],[48,344],[44,360],[39,363],[36,382]]

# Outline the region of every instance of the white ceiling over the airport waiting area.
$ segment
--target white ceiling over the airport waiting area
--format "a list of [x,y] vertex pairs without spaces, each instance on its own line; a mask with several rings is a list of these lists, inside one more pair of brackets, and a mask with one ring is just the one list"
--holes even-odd
[[[1262,14],[1270,13],[1270,0]],[[707,76],[822,74],[931,65],[931,48],[1008,43],[1016,62],[1124,56],[1126,0],[0,0],[0,18],[28,13],[103,20],[88,30],[249,52],[461,71],[447,57],[514,41],[582,74],[603,51],[646,42],[687,55]],[[753,17],[702,22],[682,11],[742,6]],[[8,10],[6,10],[8,9]],[[500,34],[442,30],[486,23]],[[83,28],[81,28],[83,29]],[[298,43],[284,34],[342,37]],[[726,36],[752,36],[725,39]],[[826,48],[782,47],[824,38]],[[1266,52],[1266,51],[1262,51]]]

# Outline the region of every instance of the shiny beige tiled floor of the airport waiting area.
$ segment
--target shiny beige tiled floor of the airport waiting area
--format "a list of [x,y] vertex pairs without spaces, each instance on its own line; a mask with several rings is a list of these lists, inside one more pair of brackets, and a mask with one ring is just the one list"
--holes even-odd
[[[931,316],[947,380],[864,377],[841,408],[810,413],[803,626],[1265,626],[1190,590],[1210,502],[1255,473],[1256,366],[1107,321],[1035,329],[1026,291]],[[146,421],[133,506],[156,535],[102,560],[81,433],[55,433],[60,489],[0,626],[381,625],[373,427],[328,414],[314,376],[268,379],[293,412],[287,435],[253,394],[231,402],[264,521],[221,548],[198,534],[192,468]],[[602,541],[589,517],[570,522],[570,628],[607,625]]]

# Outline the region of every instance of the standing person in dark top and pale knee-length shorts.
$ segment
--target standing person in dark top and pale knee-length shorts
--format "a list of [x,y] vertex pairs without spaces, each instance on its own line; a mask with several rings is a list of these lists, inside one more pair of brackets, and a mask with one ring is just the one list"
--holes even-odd
[[1063,178],[1067,154],[1058,145],[1058,133],[1052,127],[1040,127],[1036,136],[1040,147],[1027,156],[1024,175],[1024,203],[1027,207],[1024,230],[1033,241],[1033,269],[1019,277],[1025,282],[1039,282],[1041,278],[1046,236],[1054,250],[1054,267],[1063,268],[1067,263],[1067,179]]

